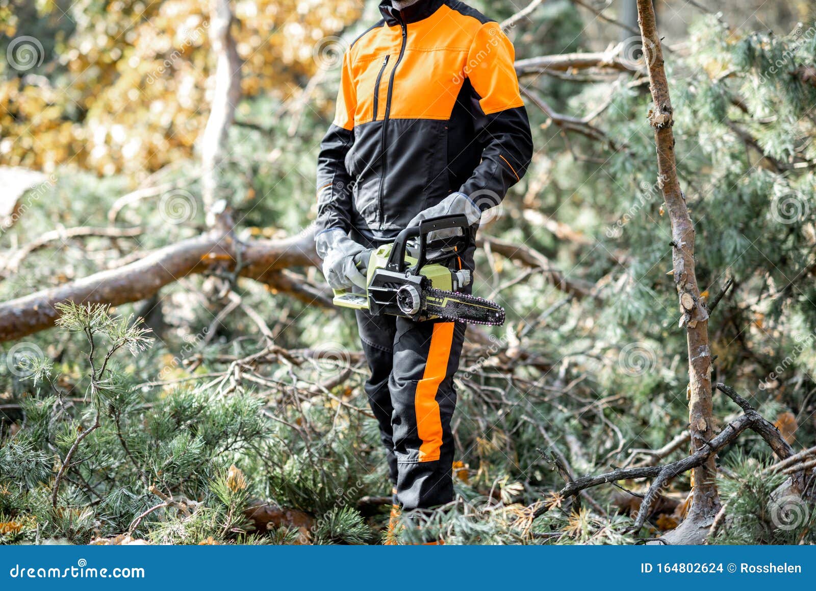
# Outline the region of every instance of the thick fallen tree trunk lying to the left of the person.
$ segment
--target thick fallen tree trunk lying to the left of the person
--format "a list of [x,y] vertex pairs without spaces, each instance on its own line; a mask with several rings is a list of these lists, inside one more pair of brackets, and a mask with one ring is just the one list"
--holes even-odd
[[54,326],[58,316],[54,306],[60,302],[126,304],[149,298],[180,278],[215,268],[267,283],[277,291],[297,294],[290,278],[282,277],[280,272],[315,264],[318,260],[311,232],[247,244],[229,236],[203,234],[160,248],[118,269],[3,302],[0,304],[0,342],[20,339]]

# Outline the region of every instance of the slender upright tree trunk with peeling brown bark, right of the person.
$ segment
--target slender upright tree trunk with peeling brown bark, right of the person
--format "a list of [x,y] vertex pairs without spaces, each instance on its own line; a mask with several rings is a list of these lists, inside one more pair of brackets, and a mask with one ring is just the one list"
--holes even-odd
[[[672,262],[674,282],[680,300],[681,327],[685,327],[689,354],[689,429],[691,453],[707,447],[712,438],[711,348],[708,342],[708,312],[694,272],[694,224],[685,204],[685,195],[677,179],[672,133],[673,110],[669,97],[663,51],[654,19],[652,0],[637,0],[637,22],[641,28],[646,68],[649,73],[652,109],[649,120],[654,127],[657,148],[659,186],[672,223]],[[688,520],[711,524],[720,509],[716,489],[716,456],[692,470],[692,504]]]

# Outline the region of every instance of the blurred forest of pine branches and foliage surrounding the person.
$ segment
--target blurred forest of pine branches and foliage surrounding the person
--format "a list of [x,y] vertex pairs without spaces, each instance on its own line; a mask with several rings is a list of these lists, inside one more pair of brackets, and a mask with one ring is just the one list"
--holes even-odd
[[[705,487],[709,543],[813,543],[816,6],[655,2],[727,384],[698,430],[776,433],[727,437],[701,483],[659,475],[689,455],[689,367],[636,2],[471,3],[515,43],[536,153],[482,220],[475,291],[508,322],[468,328],[457,500],[423,527],[670,540]],[[367,370],[309,229],[340,59],[377,19],[0,0],[0,542],[383,540]]]

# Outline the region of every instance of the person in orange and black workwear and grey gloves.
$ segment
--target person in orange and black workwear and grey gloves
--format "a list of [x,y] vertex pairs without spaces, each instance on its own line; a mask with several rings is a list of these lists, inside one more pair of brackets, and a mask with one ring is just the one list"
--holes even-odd
[[[457,0],[384,0],[379,10],[345,53],[317,164],[315,241],[335,289],[365,288],[370,249],[420,220],[463,214],[475,234],[532,155],[499,24]],[[461,264],[473,269],[473,248]],[[357,325],[397,502],[406,511],[449,503],[464,325],[366,311]]]

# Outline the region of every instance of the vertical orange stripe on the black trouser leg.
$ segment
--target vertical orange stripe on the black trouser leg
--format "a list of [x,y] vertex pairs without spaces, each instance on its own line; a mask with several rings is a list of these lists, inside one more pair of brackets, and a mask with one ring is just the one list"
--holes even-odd
[[442,419],[439,414],[437,391],[445,379],[450,358],[450,344],[454,338],[454,322],[439,322],[433,325],[431,347],[425,361],[422,380],[416,385],[414,408],[416,430],[422,444],[419,446],[419,461],[439,460],[442,447]]

